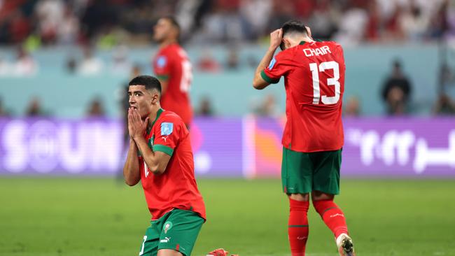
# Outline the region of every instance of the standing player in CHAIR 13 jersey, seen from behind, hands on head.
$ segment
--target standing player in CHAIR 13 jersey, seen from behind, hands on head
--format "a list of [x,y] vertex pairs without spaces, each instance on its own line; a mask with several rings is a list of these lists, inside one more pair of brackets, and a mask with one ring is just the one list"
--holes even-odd
[[[281,52],[274,57],[276,48]],[[268,66],[267,66],[268,65]],[[302,22],[289,21],[270,34],[270,46],[255,71],[262,90],[284,76],[286,127],[283,132],[283,191],[288,194],[288,235],[293,256],[304,255],[309,234],[309,199],[335,235],[339,255],[355,255],[339,194],[342,159],[344,56],[335,42],[314,41]]]

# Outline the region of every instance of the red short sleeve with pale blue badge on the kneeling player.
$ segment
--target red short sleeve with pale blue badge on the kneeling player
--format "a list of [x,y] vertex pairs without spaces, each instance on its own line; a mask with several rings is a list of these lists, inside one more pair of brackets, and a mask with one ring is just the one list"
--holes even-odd
[[180,136],[177,131],[178,122],[172,118],[162,118],[158,124],[155,124],[153,135],[153,151],[165,152],[167,155],[172,156],[174,148],[179,142]]

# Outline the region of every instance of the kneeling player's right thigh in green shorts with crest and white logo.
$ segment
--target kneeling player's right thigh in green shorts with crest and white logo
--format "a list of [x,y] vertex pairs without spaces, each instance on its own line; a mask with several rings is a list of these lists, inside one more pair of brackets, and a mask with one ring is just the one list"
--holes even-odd
[[176,250],[183,255],[191,255],[204,219],[193,211],[175,209],[162,225],[158,251]]

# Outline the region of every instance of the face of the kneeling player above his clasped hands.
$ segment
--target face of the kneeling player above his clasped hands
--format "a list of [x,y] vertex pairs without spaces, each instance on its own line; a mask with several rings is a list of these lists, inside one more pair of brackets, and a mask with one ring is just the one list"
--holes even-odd
[[152,113],[153,97],[144,85],[130,85],[128,97],[130,98],[130,108],[137,109],[141,118],[146,118]]

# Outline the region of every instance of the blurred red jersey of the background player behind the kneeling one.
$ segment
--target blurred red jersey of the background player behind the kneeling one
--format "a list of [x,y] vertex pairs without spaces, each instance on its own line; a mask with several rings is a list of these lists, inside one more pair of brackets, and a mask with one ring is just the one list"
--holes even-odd
[[190,125],[193,111],[188,91],[193,73],[185,50],[176,43],[161,48],[153,59],[153,71],[160,80],[168,83],[160,99],[162,108],[180,115],[183,122]]

